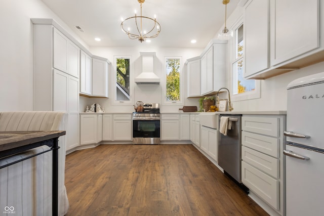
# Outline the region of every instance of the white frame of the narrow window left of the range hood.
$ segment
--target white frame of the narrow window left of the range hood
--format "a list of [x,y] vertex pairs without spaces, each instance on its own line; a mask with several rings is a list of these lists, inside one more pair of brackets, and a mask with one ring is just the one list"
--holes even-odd
[[[130,99],[129,100],[116,100],[116,88],[117,88],[117,77],[116,77],[116,70],[117,70],[117,59],[129,59],[130,60]],[[114,64],[113,64],[113,100],[111,100],[112,105],[133,105],[134,104],[134,73],[133,73],[133,64],[132,56],[114,56]]]

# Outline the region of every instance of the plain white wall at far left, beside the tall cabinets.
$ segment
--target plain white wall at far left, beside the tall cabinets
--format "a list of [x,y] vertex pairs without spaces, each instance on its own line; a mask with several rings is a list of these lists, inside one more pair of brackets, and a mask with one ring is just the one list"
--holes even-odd
[[[33,109],[30,18],[53,18],[67,29],[40,0],[0,0],[0,111]],[[75,38],[87,47],[77,36]]]

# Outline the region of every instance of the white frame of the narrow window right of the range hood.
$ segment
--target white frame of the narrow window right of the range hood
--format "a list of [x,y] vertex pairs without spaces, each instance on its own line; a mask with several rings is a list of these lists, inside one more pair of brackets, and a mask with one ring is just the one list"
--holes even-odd
[[[167,100],[167,59],[179,59],[180,60],[180,100],[179,101],[168,101]],[[184,74],[183,74],[183,65],[182,65],[182,56],[165,56],[164,58],[164,69],[163,69],[163,80],[164,85],[162,87],[162,104],[163,105],[184,105]]]

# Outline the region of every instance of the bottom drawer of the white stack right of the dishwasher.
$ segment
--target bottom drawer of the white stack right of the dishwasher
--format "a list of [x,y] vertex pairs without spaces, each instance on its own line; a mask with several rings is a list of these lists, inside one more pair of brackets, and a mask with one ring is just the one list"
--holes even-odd
[[279,181],[242,161],[242,183],[279,210]]

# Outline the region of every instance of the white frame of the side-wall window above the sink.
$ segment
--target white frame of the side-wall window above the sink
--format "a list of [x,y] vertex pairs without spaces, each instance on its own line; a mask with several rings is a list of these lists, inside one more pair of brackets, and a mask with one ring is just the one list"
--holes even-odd
[[245,50],[243,50],[243,54],[240,57],[236,58],[236,30],[243,25],[243,49],[245,49],[245,28],[244,28],[244,21],[243,17],[240,17],[234,25],[231,26],[231,29],[234,31],[234,36],[230,39],[230,74],[229,74],[229,80],[230,80],[230,88],[231,88],[231,102],[236,102],[236,101],[245,101],[245,100],[251,100],[251,99],[258,99],[261,98],[261,81],[260,80],[255,80],[255,90],[254,91],[249,91],[245,93],[240,93],[240,94],[233,94],[233,87],[234,84],[233,82],[236,81],[237,79],[235,78],[234,80],[234,65],[238,63],[240,60],[243,60],[243,70],[245,70]]

